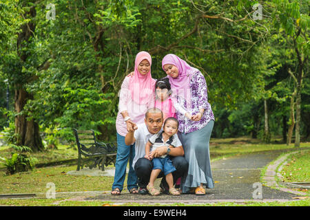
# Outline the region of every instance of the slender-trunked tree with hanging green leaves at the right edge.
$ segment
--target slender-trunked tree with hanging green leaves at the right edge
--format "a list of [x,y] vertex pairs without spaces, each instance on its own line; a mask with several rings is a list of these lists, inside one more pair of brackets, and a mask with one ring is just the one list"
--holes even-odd
[[[296,127],[295,146],[300,146],[300,113],[301,94],[303,88],[304,72],[307,68],[310,53],[309,41],[309,1],[273,1],[275,9],[272,12],[273,24],[278,30],[282,28],[291,41],[291,47],[296,52],[297,70],[289,72],[296,80]],[[280,30],[281,31],[281,30]]]

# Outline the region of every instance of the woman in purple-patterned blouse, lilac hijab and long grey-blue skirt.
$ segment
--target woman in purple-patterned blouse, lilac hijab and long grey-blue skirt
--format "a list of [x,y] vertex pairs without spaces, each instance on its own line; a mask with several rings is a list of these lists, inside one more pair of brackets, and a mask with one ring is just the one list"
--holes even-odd
[[176,118],[180,123],[178,137],[183,144],[188,173],[183,177],[183,193],[205,195],[205,188],[214,188],[209,157],[209,140],[214,114],[207,100],[207,83],[201,72],[174,54],[162,61],[172,87]]

